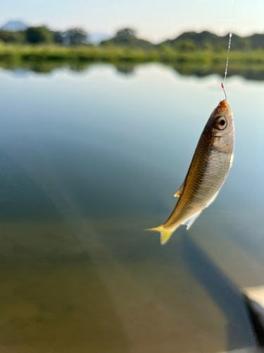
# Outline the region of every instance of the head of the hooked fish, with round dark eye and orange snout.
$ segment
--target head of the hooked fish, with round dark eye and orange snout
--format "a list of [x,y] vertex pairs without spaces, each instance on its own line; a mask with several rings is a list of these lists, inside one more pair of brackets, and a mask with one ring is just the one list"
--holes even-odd
[[233,113],[226,100],[221,100],[213,110],[206,131],[210,135],[210,143],[222,152],[232,152],[234,148]]

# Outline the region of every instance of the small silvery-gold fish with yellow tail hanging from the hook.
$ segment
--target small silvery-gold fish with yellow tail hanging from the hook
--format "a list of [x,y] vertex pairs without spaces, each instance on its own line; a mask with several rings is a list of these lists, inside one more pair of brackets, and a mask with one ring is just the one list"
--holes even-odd
[[204,208],[215,200],[224,184],[233,160],[234,121],[226,100],[222,100],[206,123],[179,191],[179,200],[168,220],[160,227],[146,229],[161,232],[161,244],[180,227],[191,227]]

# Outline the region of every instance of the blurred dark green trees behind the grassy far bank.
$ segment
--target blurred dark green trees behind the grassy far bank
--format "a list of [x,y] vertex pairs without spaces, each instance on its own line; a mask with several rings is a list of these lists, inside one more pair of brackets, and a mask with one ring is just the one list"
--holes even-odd
[[[212,32],[184,32],[174,40],[165,40],[160,44],[153,44],[148,40],[137,37],[137,32],[131,28],[123,28],[109,40],[103,40],[101,47],[129,47],[142,50],[176,50],[179,52],[223,51],[227,49],[229,35],[218,36]],[[72,28],[65,32],[52,31],[45,26],[30,27],[24,31],[9,32],[0,30],[0,42],[13,44],[60,44],[60,45],[88,45],[89,35],[82,28]],[[251,51],[264,49],[264,34],[254,34],[247,37],[232,35],[233,51]]]

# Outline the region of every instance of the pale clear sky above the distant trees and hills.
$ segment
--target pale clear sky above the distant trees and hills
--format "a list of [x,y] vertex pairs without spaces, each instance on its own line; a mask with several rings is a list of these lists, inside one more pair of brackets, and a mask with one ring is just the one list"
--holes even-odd
[[226,35],[232,22],[239,35],[264,32],[264,0],[0,0],[0,8],[0,25],[23,20],[53,30],[81,27],[110,35],[129,27],[152,42],[188,30]]

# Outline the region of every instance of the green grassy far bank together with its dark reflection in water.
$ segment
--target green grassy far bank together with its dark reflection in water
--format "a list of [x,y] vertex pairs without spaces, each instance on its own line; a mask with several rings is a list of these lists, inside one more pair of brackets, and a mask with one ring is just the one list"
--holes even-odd
[[[231,52],[229,76],[239,75],[254,80],[264,80],[264,51]],[[120,71],[150,61],[173,66],[182,75],[223,75],[227,52],[177,52],[170,48],[140,50],[124,47],[60,47],[0,45],[0,66],[3,68],[30,68],[33,71],[50,72],[56,67],[70,66],[80,71],[93,62],[114,64]]]

